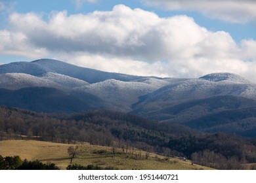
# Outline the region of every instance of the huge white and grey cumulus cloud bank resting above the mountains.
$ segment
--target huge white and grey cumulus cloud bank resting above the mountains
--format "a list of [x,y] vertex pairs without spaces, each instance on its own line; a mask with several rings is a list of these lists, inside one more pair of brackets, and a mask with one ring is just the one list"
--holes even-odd
[[[160,18],[117,5],[112,11],[68,15],[14,13],[0,30],[0,54],[53,57],[104,71],[133,75],[199,77],[231,72],[256,78],[256,41],[239,44],[188,16]],[[3,40],[3,41],[2,41]]]

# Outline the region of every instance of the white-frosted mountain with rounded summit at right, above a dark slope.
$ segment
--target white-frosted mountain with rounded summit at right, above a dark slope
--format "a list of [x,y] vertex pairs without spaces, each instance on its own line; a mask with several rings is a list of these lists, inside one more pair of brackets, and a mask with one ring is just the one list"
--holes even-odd
[[213,74],[214,78],[209,76],[212,75],[203,76],[200,79],[177,80],[163,86],[141,96],[140,101],[133,105],[133,110],[147,113],[186,101],[226,95],[256,99],[256,84],[249,80],[226,73]]

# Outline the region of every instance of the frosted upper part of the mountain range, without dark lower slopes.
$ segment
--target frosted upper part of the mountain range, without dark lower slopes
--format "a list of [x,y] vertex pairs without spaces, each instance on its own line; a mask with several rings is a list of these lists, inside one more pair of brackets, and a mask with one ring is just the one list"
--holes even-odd
[[108,73],[53,59],[0,65],[0,73],[3,89],[55,88],[83,102],[94,98],[101,101],[100,107],[104,103],[106,108],[144,111],[145,114],[215,96],[256,99],[256,84],[232,73],[213,73],[200,78],[158,78]]

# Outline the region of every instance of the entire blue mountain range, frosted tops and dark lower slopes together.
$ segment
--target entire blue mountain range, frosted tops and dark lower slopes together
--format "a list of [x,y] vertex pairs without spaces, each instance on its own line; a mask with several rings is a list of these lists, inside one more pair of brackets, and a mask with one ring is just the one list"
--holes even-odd
[[[112,109],[202,131],[253,133],[256,84],[232,73],[158,78],[39,59],[0,65],[0,105],[37,112]],[[243,133],[238,129],[246,126]]]

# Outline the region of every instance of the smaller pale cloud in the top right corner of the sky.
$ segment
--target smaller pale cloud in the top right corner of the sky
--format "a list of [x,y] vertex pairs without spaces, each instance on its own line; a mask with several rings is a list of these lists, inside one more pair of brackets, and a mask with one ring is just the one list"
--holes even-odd
[[145,5],[167,10],[194,10],[221,20],[243,23],[256,21],[255,0],[140,0]]

